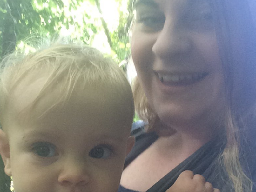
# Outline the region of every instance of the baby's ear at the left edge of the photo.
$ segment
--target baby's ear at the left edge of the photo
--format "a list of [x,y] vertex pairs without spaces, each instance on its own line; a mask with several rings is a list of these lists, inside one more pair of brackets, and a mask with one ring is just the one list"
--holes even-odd
[[4,163],[4,172],[11,176],[10,146],[7,135],[0,129],[0,154]]

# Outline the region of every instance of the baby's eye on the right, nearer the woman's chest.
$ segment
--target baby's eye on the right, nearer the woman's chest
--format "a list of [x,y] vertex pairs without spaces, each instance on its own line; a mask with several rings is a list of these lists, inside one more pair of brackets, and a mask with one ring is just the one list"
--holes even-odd
[[111,156],[112,149],[108,145],[99,145],[91,149],[89,156],[96,159],[106,159]]

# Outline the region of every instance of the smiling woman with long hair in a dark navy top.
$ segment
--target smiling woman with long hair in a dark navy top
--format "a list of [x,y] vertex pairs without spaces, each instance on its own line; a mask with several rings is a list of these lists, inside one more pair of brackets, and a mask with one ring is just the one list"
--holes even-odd
[[147,133],[135,130],[119,192],[166,191],[185,170],[221,192],[256,191],[256,32],[249,3],[135,2],[134,98],[148,126]]

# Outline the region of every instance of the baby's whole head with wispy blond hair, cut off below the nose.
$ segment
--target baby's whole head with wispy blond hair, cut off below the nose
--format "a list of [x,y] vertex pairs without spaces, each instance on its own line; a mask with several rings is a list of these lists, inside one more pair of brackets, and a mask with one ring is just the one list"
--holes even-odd
[[0,152],[15,192],[114,192],[133,98],[121,69],[88,46],[53,44],[2,62]]

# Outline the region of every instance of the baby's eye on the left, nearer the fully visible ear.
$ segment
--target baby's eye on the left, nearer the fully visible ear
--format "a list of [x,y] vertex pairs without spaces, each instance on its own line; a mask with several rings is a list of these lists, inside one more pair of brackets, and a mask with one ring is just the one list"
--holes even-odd
[[38,142],[33,145],[33,151],[41,157],[53,157],[57,155],[55,145],[48,142]]

